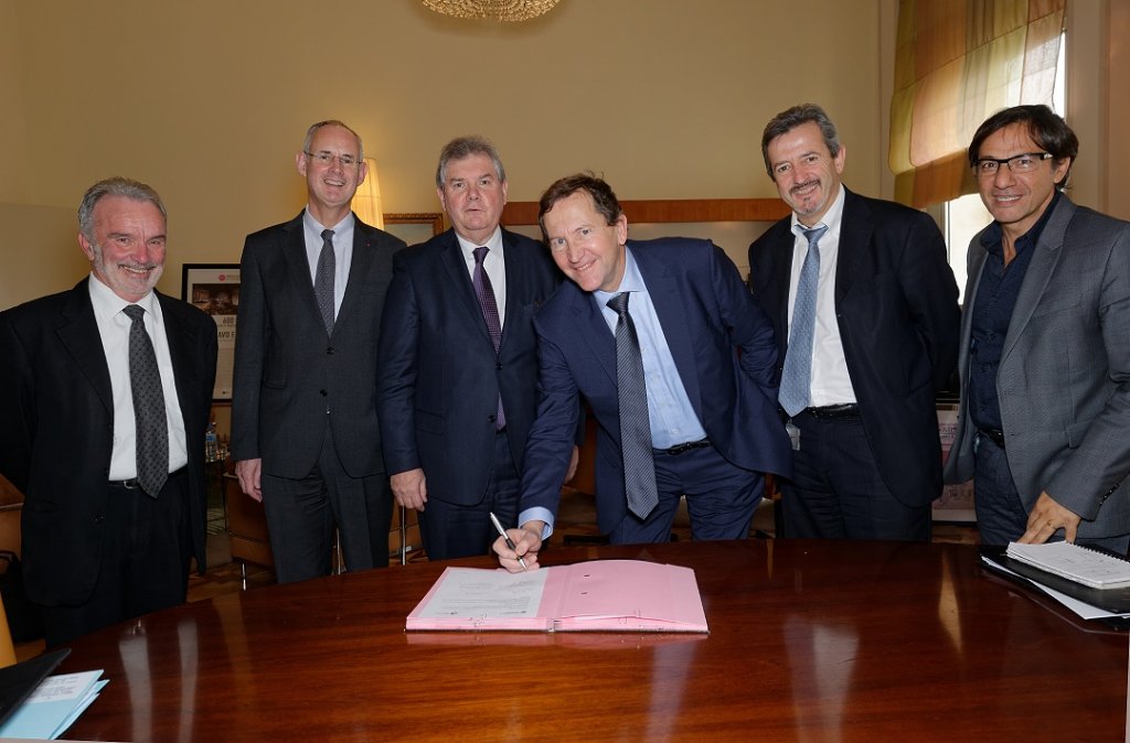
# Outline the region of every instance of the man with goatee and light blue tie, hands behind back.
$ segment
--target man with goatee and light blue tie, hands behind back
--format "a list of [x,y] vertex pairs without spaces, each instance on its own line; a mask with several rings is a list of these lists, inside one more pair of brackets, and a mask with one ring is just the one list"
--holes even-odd
[[935,395],[959,315],[941,233],[925,213],[843,187],[844,148],[819,106],[777,114],[762,155],[793,210],[749,246],[793,442],[784,534],[928,541],[941,495]]

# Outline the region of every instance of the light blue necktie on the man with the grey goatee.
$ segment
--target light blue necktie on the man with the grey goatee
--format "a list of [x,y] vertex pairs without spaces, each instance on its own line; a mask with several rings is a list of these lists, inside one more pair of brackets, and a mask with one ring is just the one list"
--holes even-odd
[[777,399],[790,417],[808,408],[812,387],[812,340],[816,335],[816,292],[820,283],[820,251],[817,243],[828,231],[825,226],[801,230],[808,238],[808,255],[797,281],[797,300],[792,306],[792,329],[789,350],[781,373]]

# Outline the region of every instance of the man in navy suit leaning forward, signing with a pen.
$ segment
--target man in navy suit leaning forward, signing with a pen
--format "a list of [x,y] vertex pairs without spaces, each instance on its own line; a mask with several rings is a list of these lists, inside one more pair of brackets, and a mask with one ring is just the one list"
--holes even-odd
[[[570,282],[534,318],[538,417],[525,448],[511,570],[532,567],[556,515],[577,395],[597,435],[597,525],[614,543],[670,537],[683,495],[692,536],[742,539],[765,472],[789,474],[776,418],[773,329],[709,241],[627,239],[616,194],[591,175],[541,196],[541,229]],[[518,558],[524,559],[524,566]]]

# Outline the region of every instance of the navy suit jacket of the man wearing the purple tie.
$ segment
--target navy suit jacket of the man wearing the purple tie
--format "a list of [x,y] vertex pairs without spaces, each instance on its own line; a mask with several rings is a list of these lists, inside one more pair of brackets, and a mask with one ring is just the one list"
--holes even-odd
[[389,473],[423,467],[428,498],[483,499],[499,390],[511,453],[522,469],[537,409],[533,314],[562,277],[541,244],[505,229],[502,239],[506,316],[497,355],[453,229],[393,259],[377,417]]

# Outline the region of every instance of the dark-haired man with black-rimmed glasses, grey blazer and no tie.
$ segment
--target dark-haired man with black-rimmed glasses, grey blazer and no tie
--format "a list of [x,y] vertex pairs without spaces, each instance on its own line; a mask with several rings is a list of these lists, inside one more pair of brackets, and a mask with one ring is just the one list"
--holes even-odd
[[1063,193],[1079,141],[1048,106],[977,129],[993,222],[970,242],[946,479],[973,479],[985,544],[1130,542],[1130,224]]

